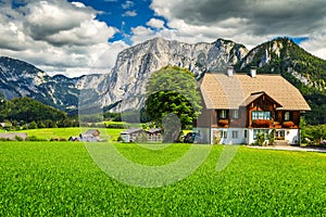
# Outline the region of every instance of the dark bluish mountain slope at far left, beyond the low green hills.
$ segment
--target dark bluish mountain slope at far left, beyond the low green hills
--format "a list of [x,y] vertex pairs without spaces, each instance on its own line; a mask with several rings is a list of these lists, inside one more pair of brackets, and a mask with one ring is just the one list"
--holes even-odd
[[67,78],[50,77],[34,65],[0,56],[0,92],[7,99],[29,97],[60,110],[76,110],[80,89],[91,85],[99,75]]

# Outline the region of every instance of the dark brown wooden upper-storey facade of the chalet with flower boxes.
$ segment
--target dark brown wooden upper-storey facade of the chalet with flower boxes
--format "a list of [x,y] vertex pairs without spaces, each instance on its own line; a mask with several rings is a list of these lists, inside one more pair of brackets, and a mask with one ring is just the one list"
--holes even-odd
[[[253,120],[253,112],[267,112],[268,119]],[[202,110],[195,127],[203,128],[292,128],[298,129],[300,111],[283,111],[281,105],[262,94],[239,110]]]

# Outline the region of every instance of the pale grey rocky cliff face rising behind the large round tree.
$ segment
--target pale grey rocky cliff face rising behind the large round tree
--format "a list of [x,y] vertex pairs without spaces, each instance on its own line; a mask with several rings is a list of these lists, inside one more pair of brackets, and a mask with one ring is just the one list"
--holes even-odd
[[189,44],[155,38],[118,54],[112,73],[97,88],[98,100],[104,106],[116,105],[112,108],[115,112],[140,107],[153,72],[177,65],[200,77],[206,71],[222,71],[238,63],[247,53],[244,46],[223,39]]

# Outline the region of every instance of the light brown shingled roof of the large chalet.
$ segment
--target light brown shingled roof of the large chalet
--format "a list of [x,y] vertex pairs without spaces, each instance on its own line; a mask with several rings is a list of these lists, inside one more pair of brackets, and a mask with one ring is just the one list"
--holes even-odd
[[200,88],[206,108],[238,108],[252,93],[265,92],[281,105],[278,110],[311,110],[300,91],[280,75],[206,73]]

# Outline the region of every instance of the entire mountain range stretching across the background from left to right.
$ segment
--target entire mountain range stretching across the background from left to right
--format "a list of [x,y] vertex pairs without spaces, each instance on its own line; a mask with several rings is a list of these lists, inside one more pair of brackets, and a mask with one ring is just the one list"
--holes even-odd
[[288,38],[259,44],[252,50],[230,40],[212,43],[184,43],[155,38],[122,51],[110,74],[79,78],[50,77],[33,65],[0,58],[0,91],[7,98],[32,97],[62,110],[111,112],[140,108],[151,74],[166,65],[190,69],[197,78],[205,72],[237,72],[258,66],[259,74],[281,74],[302,92],[313,112],[311,124],[326,123],[326,61],[318,59]]

